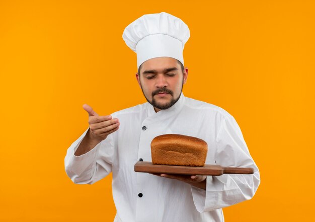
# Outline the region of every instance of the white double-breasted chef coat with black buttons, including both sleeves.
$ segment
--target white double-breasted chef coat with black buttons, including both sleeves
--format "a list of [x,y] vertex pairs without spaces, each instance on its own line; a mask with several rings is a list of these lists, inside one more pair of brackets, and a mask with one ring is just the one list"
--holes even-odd
[[[76,184],[93,184],[113,173],[115,222],[224,221],[222,207],[254,196],[260,184],[258,168],[240,127],[222,108],[182,93],[175,105],[157,113],[152,105],[144,103],[111,115],[119,119],[119,129],[88,153],[76,157],[74,152],[87,129],[68,148],[65,170]],[[151,161],[151,140],[168,133],[205,140],[206,164],[251,167],[255,173],[207,176],[203,190],[176,179],[134,172],[140,158]]]

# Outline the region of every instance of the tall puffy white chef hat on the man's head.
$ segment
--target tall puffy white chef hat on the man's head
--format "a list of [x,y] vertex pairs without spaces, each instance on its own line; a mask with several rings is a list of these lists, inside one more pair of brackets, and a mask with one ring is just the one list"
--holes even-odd
[[137,68],[156,57],[176,58],[184,65],[183,50],[189,37],[188,26],[165,12],[141,16],[122,34],[127,46],[137,53]]

